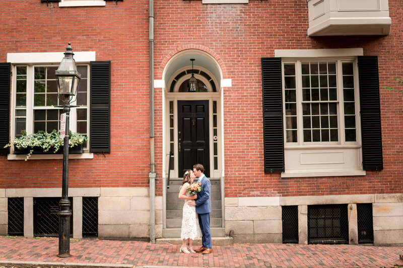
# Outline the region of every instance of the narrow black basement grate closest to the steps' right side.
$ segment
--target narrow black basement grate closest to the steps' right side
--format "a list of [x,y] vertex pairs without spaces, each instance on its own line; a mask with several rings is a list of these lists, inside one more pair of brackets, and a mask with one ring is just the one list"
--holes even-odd
[[298,243],[298,206],[282,206],[283,243]]

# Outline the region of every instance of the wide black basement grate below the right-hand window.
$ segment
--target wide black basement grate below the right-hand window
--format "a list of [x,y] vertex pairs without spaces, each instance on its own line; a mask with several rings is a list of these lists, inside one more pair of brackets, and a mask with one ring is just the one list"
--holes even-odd
[[308,244],[348,243],[347,204],[308,206]]

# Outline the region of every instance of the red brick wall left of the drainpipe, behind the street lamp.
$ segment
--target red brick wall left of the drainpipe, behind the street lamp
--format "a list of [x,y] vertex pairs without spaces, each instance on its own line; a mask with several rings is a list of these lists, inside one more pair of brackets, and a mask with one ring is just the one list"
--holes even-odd
[[[96,51],[111,61],[111,153],[70,160],[70,187],[147,187],[149,173],[148,1],[105,7],[1,1],[0,61],[13,52]],[[61,60],[61,58],[60,58]],[[62,160],[7,160],[0,188],[61,187]]]

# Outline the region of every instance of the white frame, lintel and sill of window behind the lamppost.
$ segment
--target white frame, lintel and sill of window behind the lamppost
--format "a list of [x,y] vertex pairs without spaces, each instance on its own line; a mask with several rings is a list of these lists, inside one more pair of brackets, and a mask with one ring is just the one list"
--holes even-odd
[[[74,58],[76,60],[77,65],[86,65],[88,64],[88,90],[87,90],[87,133],[89,135],[89,101],[90,101],[90,88],[89,88],[89,74],[90,74],[90,61],[95,61],[96,54],[94,51],[88,52],[74,52]],[[63,58],[63,52],[44,52],[44,53],[8,53],[7,54],[7,62],[12,63],[13,73],[16,73],[17,66],[28,66],[27,68],[27,103],[26,103],[26,131],[28,134],[33,132],[33,88],[34,88],[34,67],[35,66],[58,66],[60,60]],[[16,75],[12,78],[12,86],[11,86],[11,124],[10,124],[10,134],[11,137],[15,137],[15,110],[16,110]],[[75,102],[72,103],[74,105]],[[41,109],[57,109],[55,107],[41,107]],[[76,131],[76,109],[72,108],[70,113],[70,129],[72,131]],[[37,154],[31,155],[30,159],[61,159],[63,156],[61,154]],[[93,153],[89,153],[88,149],[85,150],[82,154],[70,154],[69,158],[77,159],[77,158],[94,158]],[[13,154],[13,150],[11,150],[10,154],[8,154],[9,160],[25,160],[26,155],[15,155]]]

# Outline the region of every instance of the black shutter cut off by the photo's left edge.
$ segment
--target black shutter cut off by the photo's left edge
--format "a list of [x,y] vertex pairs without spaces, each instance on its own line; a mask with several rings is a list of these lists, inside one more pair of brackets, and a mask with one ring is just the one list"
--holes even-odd
[[8,153],[10,137],[10,78],[11,63],[0,63],[0,153]]

